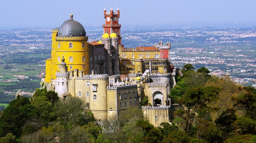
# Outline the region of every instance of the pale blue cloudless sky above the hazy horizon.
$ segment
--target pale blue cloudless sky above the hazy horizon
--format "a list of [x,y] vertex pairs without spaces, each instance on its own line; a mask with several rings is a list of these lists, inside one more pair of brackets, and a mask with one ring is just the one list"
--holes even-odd
[[69,19],[101,25],[103,10],[120,9],[120,23],[256,21],[256,0],[1,0],[0,26],[59,27]]

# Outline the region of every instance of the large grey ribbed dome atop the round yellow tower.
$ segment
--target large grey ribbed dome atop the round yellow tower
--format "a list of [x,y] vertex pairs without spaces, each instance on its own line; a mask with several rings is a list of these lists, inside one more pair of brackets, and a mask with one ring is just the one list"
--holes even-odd
[[58,37],[86,36],[86,33],[83,25],[73,20],[73,17],[72,17],[70,20],[65,21],[60,26],[57,36]]

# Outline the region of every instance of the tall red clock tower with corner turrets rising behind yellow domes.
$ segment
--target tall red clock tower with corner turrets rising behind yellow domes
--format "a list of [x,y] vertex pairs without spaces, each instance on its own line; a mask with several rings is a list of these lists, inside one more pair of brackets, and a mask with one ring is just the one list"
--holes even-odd
[[110,9],[110,12],[107,12],[106,8],[104,9],[104,18],[105,24],[102,25],[104,28],[104,33],[116,33],[118,35],[119,41],[118,44],[121,44],[121,24],[118,24],[118,19],[120,17],[119,8],[117,12],[113,11],[113,8]]

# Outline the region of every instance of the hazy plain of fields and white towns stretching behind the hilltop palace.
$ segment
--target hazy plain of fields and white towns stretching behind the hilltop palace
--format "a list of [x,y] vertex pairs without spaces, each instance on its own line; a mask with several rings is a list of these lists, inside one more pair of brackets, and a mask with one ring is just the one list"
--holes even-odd
[[[122,25],[122,44],[135,48],[170,41],[170,61],[175,67],[205,67],[211,75],[229,76],[235,83],[256,87],[256,27],[245,27],[244,22],[194,25],[200,24]],[[101,25],[84,27],[88,41],[100,40]],[[15,94],[18,89],[6,91],[6,85],[23,79],[39,87],[50,53],[50,28],[0,28],[0,93]],[[28,89],[21,91],[30,94],[32,89]]]

